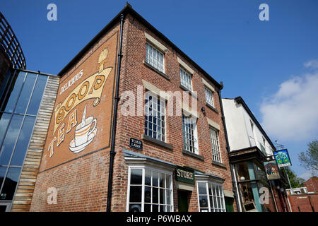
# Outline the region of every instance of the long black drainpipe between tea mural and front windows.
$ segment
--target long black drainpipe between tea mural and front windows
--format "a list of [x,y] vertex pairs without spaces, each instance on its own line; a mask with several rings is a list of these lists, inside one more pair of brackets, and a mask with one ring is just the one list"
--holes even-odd
[[113,176],[113,169],[114,169],[114,156],[116,152],[114,151],[115,148],[115,137],[116,137],[116,125],[117,125],[117,109],[118,109],[118,102],[119,102],[119,75],[120,75],[120,62],[122,59],[122,30],[123,30],[123,23],[124,23],[124,15],[120,15],[120,35],[119,35],[119,53],[118,53],[118,62],[117,62],[117,76],[116,76],[116,93],[114,97],[114,113],[112,118],[112,143],[110,147],[110,170],[108,174],[108,190],[107,190],[107,208],[106,211],[110,212],[110,206],[112,201],[112,176]]

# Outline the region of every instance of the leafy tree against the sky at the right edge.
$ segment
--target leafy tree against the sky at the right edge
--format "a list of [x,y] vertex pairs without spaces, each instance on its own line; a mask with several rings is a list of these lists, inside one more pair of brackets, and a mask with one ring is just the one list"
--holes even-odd
[[318,141],[308,143],[308,149],[298,154],[300,165],[305,169],[318,171]]

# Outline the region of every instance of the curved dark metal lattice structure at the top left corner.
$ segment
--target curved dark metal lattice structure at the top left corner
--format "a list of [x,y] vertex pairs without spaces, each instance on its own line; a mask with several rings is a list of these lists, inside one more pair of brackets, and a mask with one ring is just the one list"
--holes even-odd
[[7,55],[12,66],[16,69],[25,69],[25,57],[11,26],[0,12],[0,48]]

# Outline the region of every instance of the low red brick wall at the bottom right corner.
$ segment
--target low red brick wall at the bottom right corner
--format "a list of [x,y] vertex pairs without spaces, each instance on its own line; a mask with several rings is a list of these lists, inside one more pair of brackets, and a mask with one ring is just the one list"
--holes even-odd
[[[288,196],[293,212],[314,212],[318,211],[318,194],[299,194]],[[310,202],[312,205],[310,205]]]

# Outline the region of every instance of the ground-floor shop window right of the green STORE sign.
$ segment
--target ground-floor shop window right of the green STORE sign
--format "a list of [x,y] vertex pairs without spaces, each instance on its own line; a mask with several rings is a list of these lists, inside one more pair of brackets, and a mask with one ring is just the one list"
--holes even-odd
[[225,212],[223,186],[213,182],[197,182],[200,212]]

